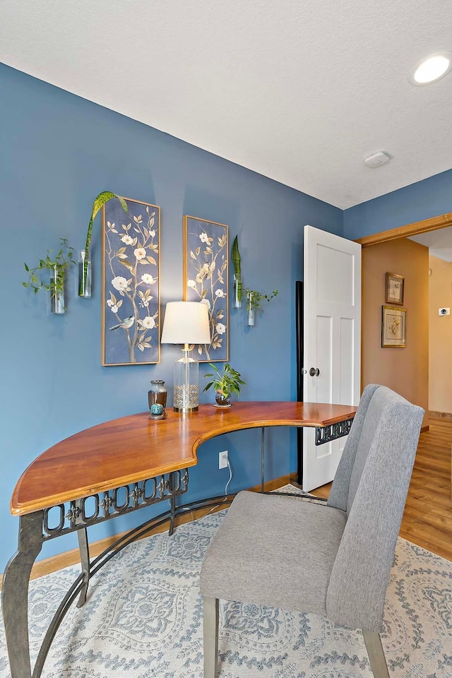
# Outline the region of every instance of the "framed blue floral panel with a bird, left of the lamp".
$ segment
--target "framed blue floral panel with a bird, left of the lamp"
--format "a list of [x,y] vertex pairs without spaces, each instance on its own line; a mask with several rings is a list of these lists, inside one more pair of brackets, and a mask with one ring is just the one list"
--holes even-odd
[[160,361],[160,208],[102,208],[102,364]]

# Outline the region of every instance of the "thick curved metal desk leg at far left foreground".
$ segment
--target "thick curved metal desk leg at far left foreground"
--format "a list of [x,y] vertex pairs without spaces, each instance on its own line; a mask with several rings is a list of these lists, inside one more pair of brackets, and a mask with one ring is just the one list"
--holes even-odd
[[18,550],[6,565],[1,601],[12,678],[31,678],[28,582],[42,548],[42,511],[20,516]]

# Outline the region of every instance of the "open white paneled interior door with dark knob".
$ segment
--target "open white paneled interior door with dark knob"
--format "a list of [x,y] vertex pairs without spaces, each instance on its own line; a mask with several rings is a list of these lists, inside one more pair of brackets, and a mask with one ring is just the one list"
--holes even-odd
[[[361,358],[361,245],[304,227],[303,400],[357,405]],[[309,374],[309,371],[314,374]],[[315,444],[303,429],[303,489],[331,482],[346,438]]]

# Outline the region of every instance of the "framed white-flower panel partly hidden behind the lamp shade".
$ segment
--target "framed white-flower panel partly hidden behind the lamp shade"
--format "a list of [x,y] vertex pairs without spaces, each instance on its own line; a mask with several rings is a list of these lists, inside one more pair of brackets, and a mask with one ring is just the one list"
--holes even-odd
[[195,347],[200,362],[229,359],[228,227],[184,216],[184,301],[207,304],[210,345]]

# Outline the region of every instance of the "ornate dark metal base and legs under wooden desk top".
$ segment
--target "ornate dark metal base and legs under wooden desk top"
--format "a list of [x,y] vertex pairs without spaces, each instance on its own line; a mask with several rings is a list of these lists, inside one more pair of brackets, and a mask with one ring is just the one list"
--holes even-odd
[[[316,428],[316,445],[346,436],[351,420]],[[265,429],[261,429],[261,492],[264,491]],[[2,591],[2,607],[12,678],[40,678],[44,661],[64,615],[78,596],[77,606],[82,607],[88,592],[90,578],[121,549],[145,536],[169,518],[169,534],[174,531],[174,518],[201,507],[218,506],[232,501],[234,495],[216,496],[176,506],[177,496],[189,487],[188,469],[172,471],[165,475],[110,489],[107,492],[58,504],[49,509],[20,516],[18,550],[6,565]],[[90,561],[87,528],[165,499],[169,510],[120,537],[95,559]],[[28,584],[32,565],[42,549],[42,544],[54,537],[77,532],[81,554],[81,574],[61,601],[44,636],[40,652],[31,670],[28,641]]]

